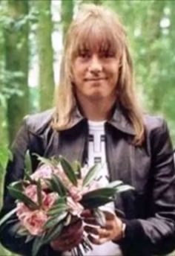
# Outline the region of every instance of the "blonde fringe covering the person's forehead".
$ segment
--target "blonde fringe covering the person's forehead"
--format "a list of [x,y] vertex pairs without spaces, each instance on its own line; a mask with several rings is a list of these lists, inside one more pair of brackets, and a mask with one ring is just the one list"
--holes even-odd
[[[80,24],[81,23],[81,24]],[[82,51],[111,52],[116,57],[122,56],[122,42],[116,29],[107,21],[94,18],[80,22],[75,26],[74,42],[72,41],[72,60]]]

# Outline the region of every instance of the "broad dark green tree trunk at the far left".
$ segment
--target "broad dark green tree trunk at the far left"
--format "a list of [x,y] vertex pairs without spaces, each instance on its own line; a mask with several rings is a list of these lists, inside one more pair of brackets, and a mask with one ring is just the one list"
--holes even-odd
[[7,100],[7,121],[10,143],[13,141],[22,118],[28,112],[28,1],[7,1],[9,20],[4,30],[6,83],[10,90]]

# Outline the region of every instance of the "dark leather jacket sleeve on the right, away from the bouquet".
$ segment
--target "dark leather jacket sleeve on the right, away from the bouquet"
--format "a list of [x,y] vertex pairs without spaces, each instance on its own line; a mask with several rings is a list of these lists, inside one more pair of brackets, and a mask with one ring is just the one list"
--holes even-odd
[[175,171],[171,140],[165,121],[150,135],[151,217],[124,220],[120,245],[127,255],[162,255],[175,248]]

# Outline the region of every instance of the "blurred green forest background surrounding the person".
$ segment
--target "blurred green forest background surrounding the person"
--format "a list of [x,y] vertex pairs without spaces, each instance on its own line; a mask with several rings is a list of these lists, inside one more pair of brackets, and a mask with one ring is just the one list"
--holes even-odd
[[[124,22],[138,97],[146,112],[168,121],[175,144],[174,0],[0,0],[0,197],[8,147],[24,115],[53,106],[67,26],[90,2]],[[14,254],[0,246],[6,255]]]

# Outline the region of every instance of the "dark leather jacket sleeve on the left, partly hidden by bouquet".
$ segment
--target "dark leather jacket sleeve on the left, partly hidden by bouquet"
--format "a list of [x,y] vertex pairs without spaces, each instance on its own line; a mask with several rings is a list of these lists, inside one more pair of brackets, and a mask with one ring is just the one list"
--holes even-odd
[[[27,150],[30,150],[30,135],[27,127],[27,119],[25,118],[21,129],[19,129],[16,139],[13,142],[11,152],[12,159],[7,163],[7,172],[4,177],[4,202],[1,209],[0,217],[7,214],[13,208],[15,208],[15,200],[10,196],[7,190],[7,185],[24,177],[24,159]],[[16,215],[11,217],[11,220],[7,220],[0,228],[0,240],[1,244],[8,250],[17,253],[19,255],[31,256],[32,242],[25,243],[26,237],[16,237],[12,226],[18,221]],[[40,250],[40,256],[57,255],[60,254],[51,249],[50,246],[43,246]]]

